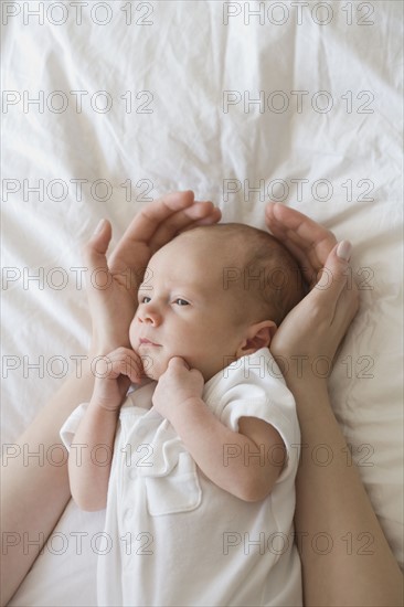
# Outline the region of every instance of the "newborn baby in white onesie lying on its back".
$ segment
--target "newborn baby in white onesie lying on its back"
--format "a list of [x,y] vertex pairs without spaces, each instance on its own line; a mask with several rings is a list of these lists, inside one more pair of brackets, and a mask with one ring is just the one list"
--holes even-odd
[[61,433],[76,503],[106,507],[98,605],[301,605],[300,435],[268,347],[302,295],[286,248],[242,224],[150,259],[132,350]]

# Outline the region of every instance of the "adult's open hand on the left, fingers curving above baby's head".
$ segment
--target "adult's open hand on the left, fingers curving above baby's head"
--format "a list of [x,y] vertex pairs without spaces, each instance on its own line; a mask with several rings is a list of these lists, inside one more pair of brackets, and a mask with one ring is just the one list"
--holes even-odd
[[91,270],[87,296],[93,320],[93,354],[129,347],[129,324],[137,289],[158,248],[183,230],[216,223],[221,212],[212,202],[195,203],[192,191],[173,192],[145,206],[132,220],[107,262],[111,226],[103,220],[83,248]]

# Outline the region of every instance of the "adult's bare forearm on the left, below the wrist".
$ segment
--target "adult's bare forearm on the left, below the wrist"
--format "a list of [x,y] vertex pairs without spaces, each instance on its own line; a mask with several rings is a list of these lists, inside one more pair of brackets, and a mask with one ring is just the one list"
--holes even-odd
[[2,605],[26,575],[70,499],[67,451],[60,429],[72,411],[89,400],[93,385],[89,364],[85,364],[81,376],[65,380],[20,439],[9,447],[12,457],[3,458]]

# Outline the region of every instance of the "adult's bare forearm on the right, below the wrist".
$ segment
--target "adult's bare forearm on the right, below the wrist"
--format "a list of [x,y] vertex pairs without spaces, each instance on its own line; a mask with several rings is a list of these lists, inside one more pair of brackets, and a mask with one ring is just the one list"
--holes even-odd
[[402,605],[400,568],[349,457],[327,387],[296,384],[290,388],[302,443],[296,532],[305,606]]

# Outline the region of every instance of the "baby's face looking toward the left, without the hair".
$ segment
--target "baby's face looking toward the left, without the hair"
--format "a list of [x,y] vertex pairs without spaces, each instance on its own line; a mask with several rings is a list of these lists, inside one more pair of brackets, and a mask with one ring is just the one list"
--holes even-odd
[[240,321],[235,292],[223,286],[224,259],[223,246],[187,234],[150,259],[129,339],[152,380],[173,356],[198,369],[205,381],[240,358],[246,323]]

